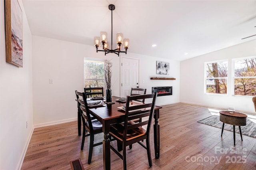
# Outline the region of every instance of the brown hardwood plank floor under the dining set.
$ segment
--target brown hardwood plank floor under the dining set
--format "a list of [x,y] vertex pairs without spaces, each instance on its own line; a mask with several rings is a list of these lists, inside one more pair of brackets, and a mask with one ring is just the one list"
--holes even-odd
[[[197,121],[211,116],[209,107],[176,103],[160,109],[160,158],[154,157],[153,127],[151,154],[153,166],[148,166],[146,150],[139,144],[127,147],[127,168],[134,170],[255,170],[256,138],[211,127]],[[74,111],[75,112],[75,111]],[[152,123],[153,124],[153,123]],[[95,140],[103,134],[95,135]],[[81,158],[86,170],[102,170],[102,145],[93,148],[92,163],[87,164],[90,137],[80,150],[82,135],[77,122],[35,128],[22,170],[70,170],[70,161]],[[145,142],[145,141],[144,141]],[[112,143],[114,146],[115,143]],[[225,151],[226,150],[226,151]],[[236,151],[236,152],[235,152]],[[122,160],[111,151],[111,169],[122,169]]]

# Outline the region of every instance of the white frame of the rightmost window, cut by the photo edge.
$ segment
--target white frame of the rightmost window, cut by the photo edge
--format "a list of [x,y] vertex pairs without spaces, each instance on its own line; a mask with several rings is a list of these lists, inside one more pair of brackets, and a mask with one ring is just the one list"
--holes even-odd
[[253,96],[249,96],[249,95],[235,95],[235,79],[241,79],[241,78],[253,78],[256,79],[255,77],[235,77],[235,61],[236,60],[242,60],[242,59],[248,59],[248,58],[256,58],[256,55],[252,55],[249,57],[240,57],[240,58],[233,58],[232,59],[232,81],[231,81],[231,91],[232,91],[232,96],[238,96],[238,97],[253,97]]

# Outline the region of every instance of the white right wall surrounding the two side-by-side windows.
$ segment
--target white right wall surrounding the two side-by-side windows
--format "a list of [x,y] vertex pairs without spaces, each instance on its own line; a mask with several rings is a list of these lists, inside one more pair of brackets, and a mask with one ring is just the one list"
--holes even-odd
[[230,66],[232,58],[254,55],[256,55],[256,40],[182,61],[180,63],[180,101],[224,109],[233,106],[237,111],[255,113],[252,97],[232,96],[231,67],[228,70],[228,94],[204,94],[204,62],[228,59]]

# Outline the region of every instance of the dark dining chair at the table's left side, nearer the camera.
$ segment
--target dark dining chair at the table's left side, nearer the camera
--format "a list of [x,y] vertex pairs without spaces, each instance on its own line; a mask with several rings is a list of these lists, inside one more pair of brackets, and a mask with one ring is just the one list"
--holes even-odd
[[[81,150],[84,149],[84,140],[86,136],[90,136],[90,146],[89,146],[89,156],[88,156],[88,164],[92,161],[92,149],[94,146],[98,146],[102,144],[102,142],[94,144],[94,134],[98,134],[102,132],[102,124],[96,119],[92,120],[92,117],[89,114],[89,109],[86,101],[86,93],[76,92],[76,98],[78,101],[78,106],[80,108],[80,114],[82,115],[83,122],[83,136],[82,136],[82,144]],[[86,134],[86,132],[89,132]]]

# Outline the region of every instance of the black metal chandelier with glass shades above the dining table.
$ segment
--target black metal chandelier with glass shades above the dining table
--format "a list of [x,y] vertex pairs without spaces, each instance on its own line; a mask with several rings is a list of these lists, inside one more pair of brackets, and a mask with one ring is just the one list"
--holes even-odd
[[[119,56],[119,53],[125,53],[127,52],[127,49],[130,47],[129,46],[129,39],[125,38],[123,39],[123,34],[118,32],[116,34],[116,49],[112,49],[112,41],[113,41],[113,17],[112,17],[112,12],[115,10],[115,6],[113,4],[110,4],[108,6],[108,9],[111,10],[111,49],[108,49],[108,41],[107,41],[107,32],[100,32],[100,37],[94,37],[94,46],[96,47],[96,51],[104,51],[105,55],[107,53],[115,53]],[[102,49],[99,50],[98,47],[100,47],[100,42],[102,42]],[[125,51],[121,51],[121,47],[125,49]]]

